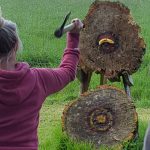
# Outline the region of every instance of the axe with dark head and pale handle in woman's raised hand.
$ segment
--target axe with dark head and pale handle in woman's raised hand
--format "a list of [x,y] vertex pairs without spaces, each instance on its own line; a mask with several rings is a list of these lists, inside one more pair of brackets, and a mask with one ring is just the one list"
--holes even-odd
[[71,24],[65,26],[67,20],[69,19],[70,14],[71,14],[71,12],[69,12],[66,15],[62,25],[58,29],[55,30],[55,32],[54,32],[55,37],[61,38],[64,33],[71,31],[75,27],[74,23],[71,23]]

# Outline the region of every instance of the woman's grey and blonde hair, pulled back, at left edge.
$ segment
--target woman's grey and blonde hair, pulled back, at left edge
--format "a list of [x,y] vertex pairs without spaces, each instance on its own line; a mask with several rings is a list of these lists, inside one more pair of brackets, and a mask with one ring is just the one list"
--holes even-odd
[[13,50],[17,51],[21,46],[16,23],[0,16],[0,58],[10,55]]

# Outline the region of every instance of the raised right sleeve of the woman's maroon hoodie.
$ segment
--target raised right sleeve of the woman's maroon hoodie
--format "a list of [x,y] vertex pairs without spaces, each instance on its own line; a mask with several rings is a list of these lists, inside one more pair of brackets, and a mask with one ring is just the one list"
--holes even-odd
[[46,96],[63,89],[75,79],[79,60],[79,34],[67,34],[67,47],[58,68],[36,68],[37,78]]

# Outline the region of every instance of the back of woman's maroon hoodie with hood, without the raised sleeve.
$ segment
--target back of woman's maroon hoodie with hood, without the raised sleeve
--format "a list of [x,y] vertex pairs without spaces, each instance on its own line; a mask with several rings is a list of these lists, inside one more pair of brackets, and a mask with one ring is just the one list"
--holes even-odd
[[0,83],[0,149],[37,149],[38,112],[46,96],[40,81],[18,63],[16,71],[0,70]]

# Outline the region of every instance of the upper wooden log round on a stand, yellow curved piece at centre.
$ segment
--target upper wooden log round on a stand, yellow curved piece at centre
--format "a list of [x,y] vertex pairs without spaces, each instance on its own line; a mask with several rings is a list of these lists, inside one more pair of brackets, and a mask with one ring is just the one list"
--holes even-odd
[[96,0],[83,20],[80,35],[80,67],[104,74],[108,79],[138,70],[145,52],[140,27],[120,2]]

